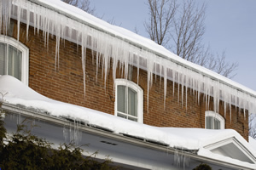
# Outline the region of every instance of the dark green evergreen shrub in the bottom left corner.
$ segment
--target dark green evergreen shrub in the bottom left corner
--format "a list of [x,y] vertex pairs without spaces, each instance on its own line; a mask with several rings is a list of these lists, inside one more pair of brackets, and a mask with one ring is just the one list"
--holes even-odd
[[[0,135],[3,141],[6,130],[0,119]],[[0,167],[2,169],[102,169],[113,170],[110,160],[96,161],[96,156],[82,156],[82,149],[74,144],[60,144],[54,150],[45,139],[33,135],[26,126],[18,126],[8,143],[1,143]]]

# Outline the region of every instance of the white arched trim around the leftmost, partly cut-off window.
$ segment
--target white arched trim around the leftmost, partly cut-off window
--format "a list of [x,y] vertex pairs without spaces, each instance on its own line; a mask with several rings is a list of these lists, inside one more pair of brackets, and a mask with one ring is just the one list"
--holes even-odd
[[13,37],[0,35],[0,42],[7,43],[20,50],[22,54],[21,60],[21,82],[28,85],[28,68],[29,68],[29,49],[21,42]]

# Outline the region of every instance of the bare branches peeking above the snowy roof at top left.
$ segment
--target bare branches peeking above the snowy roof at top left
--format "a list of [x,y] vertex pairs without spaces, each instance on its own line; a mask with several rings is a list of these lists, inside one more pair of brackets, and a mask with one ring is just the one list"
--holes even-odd
[[75,7],[79,7],[89,14],[95,13],[95,8],[90,7],[90,0],[61,0],[64,3],[71,4]]

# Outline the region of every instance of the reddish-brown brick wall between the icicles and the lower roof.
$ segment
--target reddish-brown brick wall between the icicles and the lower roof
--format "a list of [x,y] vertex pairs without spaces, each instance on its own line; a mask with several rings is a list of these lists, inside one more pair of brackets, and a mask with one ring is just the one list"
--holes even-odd
[[[13,21],[14,22],[14,21]],[[14,26],[16,37],[16,26]],[[38,93],[51,99],[57,99],[74,105],[82,105],[97,111],[114,114],[114,94],[112,71],[108,74],[106,84],[103,81],[102,68],[99,68],[96,81],[96,59],[92,59],[91,50],[87,50],[86,60],[86,94],[84,98],[84,84],[81,64],[81,49],[73,42],[61,41],[59,65],[55,70],[55,37],[49,37],[48,50],[44,46],[43,34],[34,35],[30,27],[29,40],[26,40],[26,26],[20,26],[20,42],[30,50],[29,56],[29,86]],[[117,71],[117,77],[122,77]],[[137,82],[137,68],[132,69],[131,81]],[[144,123],[158,127],[205,127],[206,103],[201,95],[197,96],[188,89],[187,107],[185,95],[181,102],[181,87],[179,101],[177,83],[175,93],[172,94],[172,82],[167,82],[166,107],[164,106],[164,82],[160,77],[154,77],[149,91],[147,104],[147,72],[140,70],[139,86],[143,88],[143,119]],[[212,102],[210,110],[212,110]],[[224,116],[224,105],[220,102],[219,114]],[[238,133],[248,139],[248,115],[232,106],[232,116],[227,109],[225,128],[236,129]]]

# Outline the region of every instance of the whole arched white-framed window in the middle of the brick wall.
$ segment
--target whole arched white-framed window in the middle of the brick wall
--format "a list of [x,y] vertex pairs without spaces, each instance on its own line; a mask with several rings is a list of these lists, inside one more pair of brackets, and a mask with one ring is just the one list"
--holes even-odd
[[143,123],[143,89],[136,83],[115,80],[115,116]]

